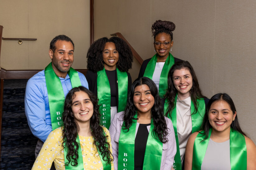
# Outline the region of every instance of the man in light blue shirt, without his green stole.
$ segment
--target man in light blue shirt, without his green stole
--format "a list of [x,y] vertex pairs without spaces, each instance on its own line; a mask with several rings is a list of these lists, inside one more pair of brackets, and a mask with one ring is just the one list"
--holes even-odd
[[[49,56],[52,69],[59,77],[64,96],[72,89],[68,71],[73,63],[74,44],[65,36],[56,36],[50,43]],[[81,85],[88,88],[85,76],[78,72]],[[72,79],[73,80],[73,79]],[[56,82],[52,82],[53,85]],[[47,85],[48,86],[48,85]],[[48,87],[49,88],[49,87]],[[25,113],[28,125],[34,136],[39,138],[36,146],[36,157],[52,129],[48,92],[45,81],[45,70],[30,78],[25,92]]]

